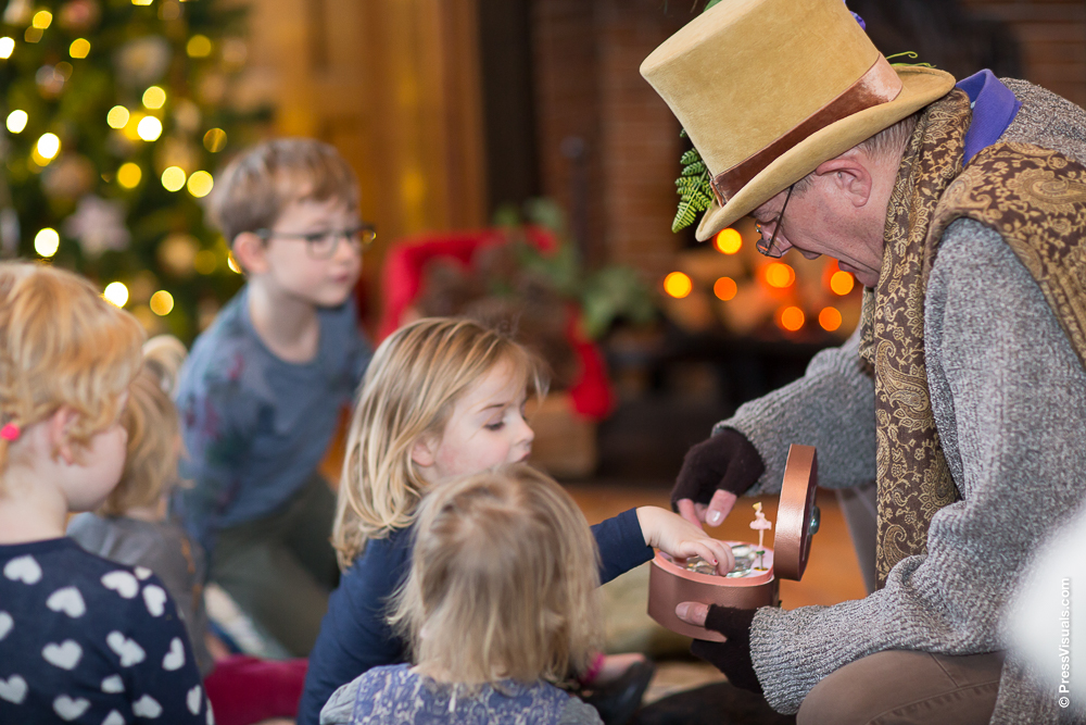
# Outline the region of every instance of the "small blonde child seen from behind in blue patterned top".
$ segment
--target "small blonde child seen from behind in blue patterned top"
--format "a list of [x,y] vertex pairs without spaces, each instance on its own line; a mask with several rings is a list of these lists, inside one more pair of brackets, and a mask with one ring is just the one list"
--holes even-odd
[[414,667],[374,667],[323,723],[598,723],[553,684],[602,643],[595,540],[553,479],[525,464],[433,489],[391,622]]

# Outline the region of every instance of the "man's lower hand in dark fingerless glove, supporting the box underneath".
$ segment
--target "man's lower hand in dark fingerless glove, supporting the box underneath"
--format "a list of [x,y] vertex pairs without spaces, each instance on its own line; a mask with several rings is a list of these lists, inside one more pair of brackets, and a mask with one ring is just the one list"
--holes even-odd
[[760,695],[761,683],[758,682],[750,660],[750,624],[756,611],[681,602],[675,607],[675,616],[687,624],[722,634],[725,638],[723,642],[695,639],[690,651],[728,675],[728,682],[735,687]]

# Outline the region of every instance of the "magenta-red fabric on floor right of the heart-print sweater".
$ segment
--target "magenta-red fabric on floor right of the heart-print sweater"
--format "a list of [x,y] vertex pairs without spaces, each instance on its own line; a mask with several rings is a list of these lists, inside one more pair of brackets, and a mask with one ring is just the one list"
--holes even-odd
[[215,663],[204,679],[218,725],[253,725],[298,714],[310,661],[261,660],[236,654]]

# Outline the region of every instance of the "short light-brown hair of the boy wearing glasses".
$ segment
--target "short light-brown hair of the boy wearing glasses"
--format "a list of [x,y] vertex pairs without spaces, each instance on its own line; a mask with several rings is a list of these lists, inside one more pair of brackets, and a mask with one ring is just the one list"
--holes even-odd
[[232,245],[242,232],[270,229],[287,204],[329,199],[358,207],[358,178],[336,147],[277,138],[249,149],[218,175],[211,216]]

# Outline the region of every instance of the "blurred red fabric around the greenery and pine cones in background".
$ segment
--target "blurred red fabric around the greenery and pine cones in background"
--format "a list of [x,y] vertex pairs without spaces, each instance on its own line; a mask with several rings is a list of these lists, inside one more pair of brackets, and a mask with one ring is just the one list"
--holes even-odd
[[[392,245],[384,257],[381,272],[382,314],[378,326],[378,341],[383,340],[400,326],[404,311],[422,286],[422,273],[431,259],[443,257],[464,265],[471,263],[476,250],[488,245],[502,245],[507,235],[501,229],[431,234],[401,239]],[[557,247],[554,236],[541,227],[528,228],[528,240],[543,251]],[[607,379],[607,367],[599,348],[581,334],[578,314],[569,315],[569,340],[581,363],[581,375],[569,389],[573,409],[592,420],[606,417],[615,405]]]

